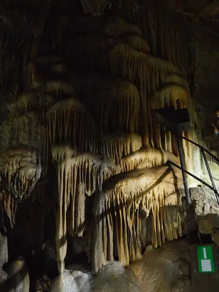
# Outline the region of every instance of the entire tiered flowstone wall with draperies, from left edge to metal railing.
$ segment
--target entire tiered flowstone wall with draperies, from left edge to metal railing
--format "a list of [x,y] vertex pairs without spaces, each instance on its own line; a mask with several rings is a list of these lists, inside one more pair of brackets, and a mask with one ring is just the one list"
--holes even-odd
[[[60,273],[68,235],[83,237],[95,272],[106,261],[128,266],[148,244],[184,233],[181,173],[166,165],[179,164],[176,138],[153,110],[187,107],[198,127],[189,40],[158,1],[95,18],[52,8],[1,101],[1,202],[11,227],[24,200],[42,203],[35,225],[55,213]],[[198,141],[195,130],[184,135]],[[201,177],[199,151],[182,145],[187,170]]]

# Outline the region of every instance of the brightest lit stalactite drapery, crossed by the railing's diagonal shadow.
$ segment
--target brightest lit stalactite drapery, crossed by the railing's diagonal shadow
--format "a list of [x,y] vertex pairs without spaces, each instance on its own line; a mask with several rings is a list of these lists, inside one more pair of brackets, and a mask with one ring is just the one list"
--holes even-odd
[[[170,240],[182,234],[177,207],[175,216],[169,209],[163,211],[165,197],[182,187],[180,177],[177,178],[177,185],[175,184],[175,174],[166,166],[151,169],[141,168],[121,173],[103,184],[102,195],[96,194],[96,203],[94,204],[95,210],[100,208],[100,205],[102,206],[100,214],[94,215],[94,218],[98,215],[99,219],[91,227],[95,228],[95,232],[97,232],[91,242],[91,256],[95,271],[104,265],[104,259],[107,260],[109,254],[114,253],[111,234],[116,236],[119,261],[124,266],[140,256],[139,210],[143,210],[148,215],[152,212],[152,243],[154,247],[160,246],[165,238]],[[112,222],[114,222],[113,225]],[[129,237],[130,239],[128,239]],[[102,239],[102,247],[100,239]]]

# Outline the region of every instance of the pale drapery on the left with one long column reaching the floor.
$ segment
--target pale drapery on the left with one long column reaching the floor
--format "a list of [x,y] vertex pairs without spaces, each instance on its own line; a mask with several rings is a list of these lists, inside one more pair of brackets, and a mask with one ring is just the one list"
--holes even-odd
[[96,186],[101,189],[102,181],[115,175],[118,166],[110,159],[101,160],[92,153],[74,150],[69,145],[54,146],[52,156],[58,177],[56,249],[59,272],[62,272],[67,230],[71,236],[83,234],[85,194],[91,196]]

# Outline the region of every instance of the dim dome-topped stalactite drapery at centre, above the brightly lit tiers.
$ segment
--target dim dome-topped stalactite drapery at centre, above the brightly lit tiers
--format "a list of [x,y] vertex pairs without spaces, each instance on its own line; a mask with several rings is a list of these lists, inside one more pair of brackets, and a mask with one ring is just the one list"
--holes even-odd
[[139,92],[134,84],[90,76],[82,82],[80,96],[101,133],[138,132]]

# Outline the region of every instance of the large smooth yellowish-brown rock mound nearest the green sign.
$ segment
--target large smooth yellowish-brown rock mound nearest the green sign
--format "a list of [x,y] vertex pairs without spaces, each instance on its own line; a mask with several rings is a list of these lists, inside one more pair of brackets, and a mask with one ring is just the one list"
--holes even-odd
[[188,292],[190,289],[189,242],[166,242],[146,249],[141,260],[129,268],[140,282],[142,292]]

